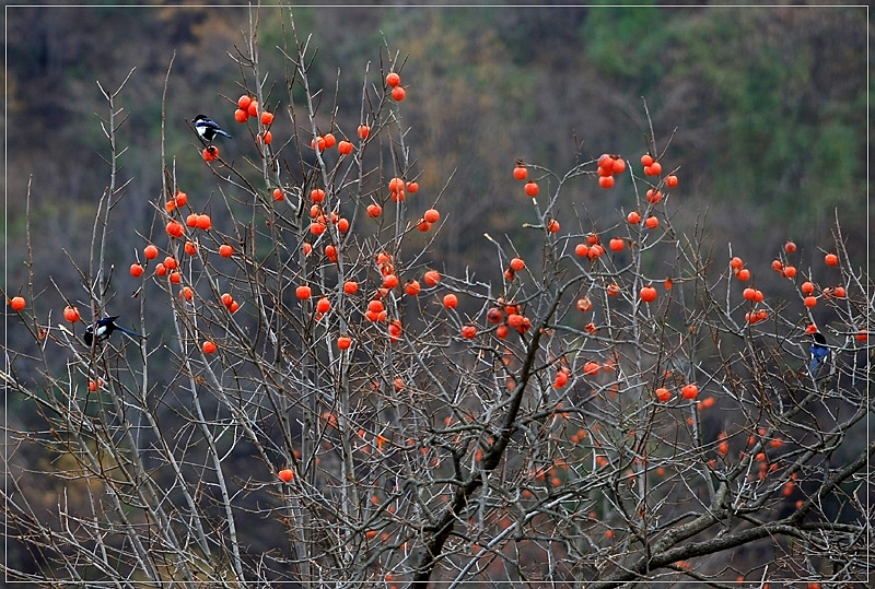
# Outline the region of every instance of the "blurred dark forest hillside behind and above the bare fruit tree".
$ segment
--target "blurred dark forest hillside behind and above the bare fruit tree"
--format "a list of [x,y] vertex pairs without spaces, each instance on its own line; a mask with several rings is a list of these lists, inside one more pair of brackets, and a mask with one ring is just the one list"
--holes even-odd
[[[229,56],[248,33],[249,9],[108,4],[5,12],[4,288],[13,296],[28,280],[23,262],[31,181],[34,291],[42,294],[28,305],[40,317],[54,309],[54,323],[66,305],[54,284],[89,320],[85,291],[67,256],[88,268],[96,204],[109,178],[100,125],[107,104],[96,82],[112,92],[136,68],[117,98],[129,116],[119,148],[129,148],[120,177],[130,184],[112,216],[112,315],[138,313],[129,294],[140,280],[127,269],[148,240],[160,244],[164,233],[155,205],[163,202],[162,93],[174,52],[165,153],[179,188],[199,202],[223,198],[186,122],[199,113],[234,136],[220,143],[224,158],[255,155],[248,131],[233,119],[236,98],[247,89]],[[638,162],[648,149],[643,101],[658,148],[672,140],[663,170],[680,166],[680,185],[672,191],[674,223],[690,233],[704,227],[715,272],[725,269],[731,243],[758,288],[779,299],[795,297],[793,285],[771,271],[771,260],[793,239],[802,252],[800,272],[807,276],[812,264],[818,270],[810,278],[818,281],[820,248],[833,249],[837,210],[851,260],[871,259],[872,24],[864,7],[301,7],[293,15],[299,35],[312,34],[311,47],[318,48],[311,83],[325,90],[322,132],[354,137],[365,68],[370,62],[369,82],[382,85],[387,49],[398,52],[407,87],[400,105],[410,128],[406,143],[420,184],[411,197],[419,201],[416,210],[431,205],[452,176],[440,204],[448,222],[432,255],[448,273],[470,267],[482,280],[501,276],[493,249],[482,247],[485,232],[508,234],[534,258],[541,236],[522,228],[533,212],[511,174],[516,158],[560,175],[604,152]],[[290,95],[291,68],[277,49],[293,44],[290,13],[261,7],[257,16],[278,148],[292,134],[290,101],[301,99]],[[294,148],[288,149],[294,162]],[[252,179],[259,176],[254,172]],[[610,190],[595,178],[573,187],[572,200],[560,203],[563,233],[606,231],[635,207],[628,178]],[[547,182],[541,193],[550,193]],[[579,228],[575,215],[585,220]],[[166,308],[150,313],[151,340],[171,319]],[[815,319],[828,321],[821,313],[828,311],[815,309]],[[5,333],[5,327],[4,335],[10,349],[16,338],[27,338]],[[24,405],[8,399],[8,419],[26,427]]]

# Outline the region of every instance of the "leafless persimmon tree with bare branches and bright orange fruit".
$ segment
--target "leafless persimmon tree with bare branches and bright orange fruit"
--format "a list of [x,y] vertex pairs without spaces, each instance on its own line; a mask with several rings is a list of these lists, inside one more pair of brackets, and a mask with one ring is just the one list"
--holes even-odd
[[[222,117],[245,155],[194,133],[164,154],[125,261],[140,317],[118,325],[145,338],[83,340],[124,294],[103,246],[136,181],[119,173],[124,83],[104,92],[109,181],[82,290],[36,290],[31,264],[4,293],[30,343],[4,350],[2,378],[39,423],[7,427],[7,537],[32,554],[10,580],[867,578],[874,303],[838,219],[828,284],[789,245],[773,270],[797,296],[762,293],[772,269],[708,248],[704,219],[675,223],[682,173],[650,129],[646,153],[564,173],[509,154],[518,191],[492,198],[529,211],[538,247],[486,234],[502,278],[448,275],[431,245],[465,211],[441,208],[452,177],[419,189],[399,54],[362,72],[350,117],[311,85],[293,23],[283,96],[256,33]],[[183,157],[214,184],[179,177]],[[586,187],[628,193],[612,224],[575,200]],[[818,330],[829,362],[809,369]]]

